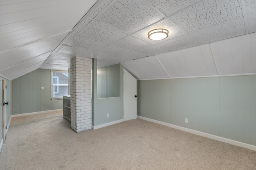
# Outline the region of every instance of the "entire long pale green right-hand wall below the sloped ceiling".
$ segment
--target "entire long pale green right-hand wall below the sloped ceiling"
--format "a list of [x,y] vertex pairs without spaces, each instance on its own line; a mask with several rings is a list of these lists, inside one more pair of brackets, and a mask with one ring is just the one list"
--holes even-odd
[[138,115],[256,145],[256,75],[138,81]]

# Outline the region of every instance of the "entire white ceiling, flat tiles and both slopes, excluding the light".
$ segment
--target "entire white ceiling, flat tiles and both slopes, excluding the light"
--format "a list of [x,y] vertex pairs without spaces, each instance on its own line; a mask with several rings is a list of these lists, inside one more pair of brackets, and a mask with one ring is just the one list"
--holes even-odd
[[[148,39],[156,28],[169,36]],[[75,56],[140,80],[256,74],[255,32],[256,0],[0,0],[0,76]]]

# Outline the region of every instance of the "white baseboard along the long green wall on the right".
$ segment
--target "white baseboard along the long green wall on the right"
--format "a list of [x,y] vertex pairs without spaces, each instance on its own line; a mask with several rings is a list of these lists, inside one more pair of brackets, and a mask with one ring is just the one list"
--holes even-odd
[[181,131],[185,131],[185,132],[188,132],[188,133],[193,133],[193,134],[196,134],[196,135],[199,135],[199,136],[202,136],[202,137],[207,137],[207,138],[210,138],[210,139],[214,139],[216,141],[220,141],[220,142],[224,142],[224,143],[229,143],[229,144],[232,144],[232,145],[236,145],[238,147],[244,147],[244,148],[256,151],[256,146],[250,145],[250,144],[247,144],[247,143],[242,143],[242,142],[234,141],[232,139],[227,139],[227,138],[224,138],[224,137],[219,137],[219,136],[216,136],[216,135],[211,135],[211,134],[208,134],[208,133],[204,133],[204,132],[188,129],[186,127],[172,125],[170,123],[165,123],[165,122],[162,122],[162,121],[158,121],[158,120],[154,120],[154,119],[149,119],[147,117],[138,116],[138,119],[143,119],[143,120],[146,120],[146,121],[151,121],[151,122],[154,122],[154,123],[158,123],[160,125],[172,127],[174,129],[179,129]]

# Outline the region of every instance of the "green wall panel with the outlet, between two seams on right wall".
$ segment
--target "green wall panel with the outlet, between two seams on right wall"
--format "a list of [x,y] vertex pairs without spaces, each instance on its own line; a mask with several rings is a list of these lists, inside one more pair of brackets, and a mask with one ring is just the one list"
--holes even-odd
[[218,77],[172,79],[170,88],[171,124],[219,135]]

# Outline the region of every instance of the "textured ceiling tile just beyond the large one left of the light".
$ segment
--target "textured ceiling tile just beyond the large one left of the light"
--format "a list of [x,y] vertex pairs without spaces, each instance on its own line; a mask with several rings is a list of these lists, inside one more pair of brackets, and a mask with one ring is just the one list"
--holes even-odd
[[110,44],[122,37],[127,36],[127,34],[105,25],[104,23],[91,21],[77,36]]

